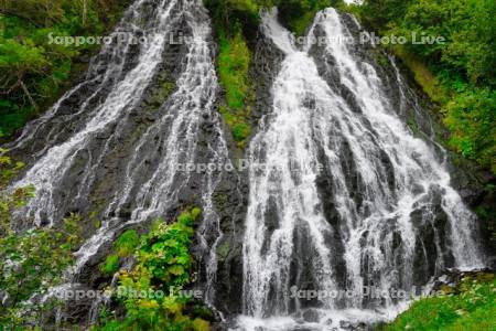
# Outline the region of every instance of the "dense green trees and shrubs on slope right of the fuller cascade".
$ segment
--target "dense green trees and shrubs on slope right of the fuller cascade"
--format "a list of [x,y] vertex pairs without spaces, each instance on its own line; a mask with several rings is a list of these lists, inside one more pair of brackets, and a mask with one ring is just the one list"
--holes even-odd
[[[496,173],[496,2],[366,0],[354,12],[381,35],[407,38],[391,49],[441,106],[449,146]],[[421,36],[445,43],[413,43]]]

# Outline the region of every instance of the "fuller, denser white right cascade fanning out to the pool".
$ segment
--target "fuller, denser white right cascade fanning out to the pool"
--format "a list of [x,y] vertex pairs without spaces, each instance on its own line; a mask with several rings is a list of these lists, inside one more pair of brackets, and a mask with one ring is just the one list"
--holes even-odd
[[[474,216],[434,150],[396,114],[376,68],[354,55],[359,45],[344,42],[357,41],[344,18],[317,13],[308,36],[326,46],[302,50],[276,11],[262,21],[285,58],[249,150],[239,325],[331,330],[339,318],[374,320],[401,300],[370,298],[365,287],[410,292],[448,267],[481,267]],[[353,295],[332,296],[338,290]]]

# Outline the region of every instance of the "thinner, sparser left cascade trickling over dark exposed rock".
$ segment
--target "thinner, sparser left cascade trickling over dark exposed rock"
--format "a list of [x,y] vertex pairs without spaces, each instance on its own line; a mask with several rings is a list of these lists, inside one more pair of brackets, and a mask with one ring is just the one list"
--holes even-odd
[[[170,42],[177,32],[183,36],[181,46]],[[203,210],[197,237],[206,273],[205,299],[212,302],[215,246],[222,237],[212,193],[222,173],[184,171],[192,163],[229,162],[214,108],[218,85],[211,33],[200,1],[136,1],[111,35],[112,43],[90,64],[85,82],[9,147],[14,153],[34,152],[34,162],[14,185],[34,185],[35,197],[22,216],[39,225],[56,224],[73,209],[90,205],[99,186],[112,188],[104,200],[101,227],[76,253],[73,282],[104,258],[104,247],[122,231],[165,216],[196,196],[194,202]],[[164,54],[173,46],[184,53],[173,67],[174,92],[151,107],[145,94],[158,84],[168,65]],[[138,126],[134,117],[144,107],[152,108],[151,119]],[[36,150],[40,139],[43,143]],[[114,181],[108,170],[112,167]]]

